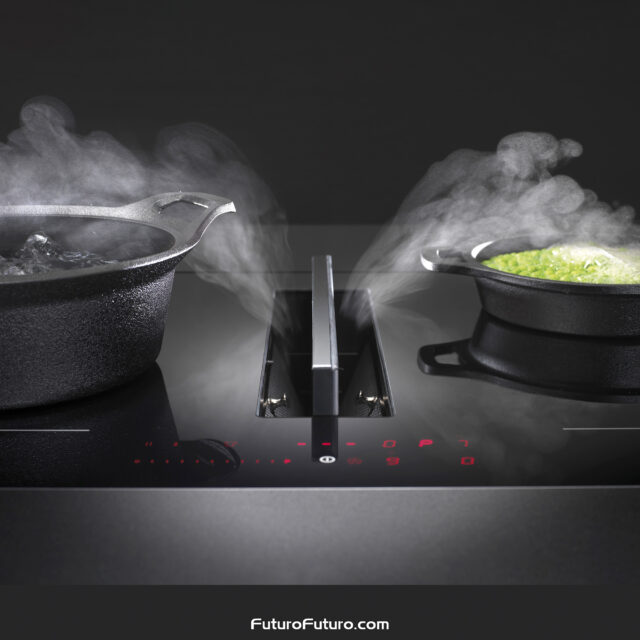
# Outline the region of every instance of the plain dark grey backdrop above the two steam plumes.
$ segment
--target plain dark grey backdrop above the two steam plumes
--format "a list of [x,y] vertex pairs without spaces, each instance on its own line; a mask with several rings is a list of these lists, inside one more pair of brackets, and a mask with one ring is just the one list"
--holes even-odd
[[381,222],[449,152],[549,131],[570,174],[638,204],[633,2],[3,3],[0,135],[49,94],[148,149],[168,124],[234,139],[289,219]]

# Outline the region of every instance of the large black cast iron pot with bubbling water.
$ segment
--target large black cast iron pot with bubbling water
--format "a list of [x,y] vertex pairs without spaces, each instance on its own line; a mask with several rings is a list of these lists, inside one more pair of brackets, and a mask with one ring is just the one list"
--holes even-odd
[[204,193],[122,207],[0,207],[0,255],[43,232],[64,249],[116,261],[0,277],[0,409],[87,396],[147,369],[176,265],[226,211],[232,202]]

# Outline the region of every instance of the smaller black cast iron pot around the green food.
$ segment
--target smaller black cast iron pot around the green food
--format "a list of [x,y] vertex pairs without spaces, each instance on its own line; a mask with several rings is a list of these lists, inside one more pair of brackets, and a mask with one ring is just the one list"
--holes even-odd
[[467,252],[427,248],[422,264],[430,271],[475,278],[482,306],[507,322],[582,336],[640,336],[640,285],[544,280],[482,264],[502,253],[542,249],[559,240],[511,238],[484,242]]

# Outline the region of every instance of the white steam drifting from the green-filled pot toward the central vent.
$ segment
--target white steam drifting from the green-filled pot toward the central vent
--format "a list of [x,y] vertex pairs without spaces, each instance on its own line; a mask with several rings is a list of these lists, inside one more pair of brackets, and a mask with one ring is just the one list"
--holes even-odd
[[[426,246],[468,250],[518,235],[571,234],[602,245],[629,234],[634,211],[598,201],[566,175],[551,171],[582,153],[573,140],[515,133],[495,152],[455,151],[432,165],[359,260],[349,287],[371,289],[378,305],[423,288]],[[395,275],[381,281],[376,272]]]

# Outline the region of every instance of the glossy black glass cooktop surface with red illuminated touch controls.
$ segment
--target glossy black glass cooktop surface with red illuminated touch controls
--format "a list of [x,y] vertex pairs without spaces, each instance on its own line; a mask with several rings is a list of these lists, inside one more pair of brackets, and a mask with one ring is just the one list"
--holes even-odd
[[[179,272],[153,369],[92,398],[0,414],[0,485],[639,483],[640,403],[633,389],[611,393],[584,381],[558,381],[557,372],[545,377],[544,368],[536,380],[515,380],[509,373],[479,373],[477,362],[463,375],[460,354],[451,348],[431,348],[432,366],[419,363],[425,346],[464,346],[483,322],[472,282],[424,277],[426,290],[394,305],[376,304],[374,296],[393,411],[311,418],[280,417],[277,407],[259,415],[268,323],[244,311],[232,294]],[[377,276],[385,278],[393,276]],[[296,290],[304,291],[308,279],[297,274]],[[335,280],[338,289],[346,286],[344,274]],[[562,360],[562,343],[556,348]],[[371,393],[360,391],[365,398]]]

